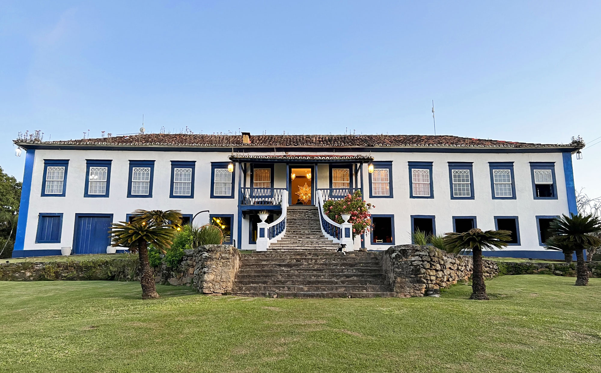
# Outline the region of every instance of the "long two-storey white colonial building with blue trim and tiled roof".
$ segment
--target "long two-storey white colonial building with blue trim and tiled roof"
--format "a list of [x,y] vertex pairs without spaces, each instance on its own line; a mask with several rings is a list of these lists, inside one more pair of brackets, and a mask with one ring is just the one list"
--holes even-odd
[[[552,218],[576,212],[572,153],[582,147],[454,136],[248,133],[15,143],[26,149],[26,160],[13,257],[59,254],[63,247],[106,252],[110,224],[126,221],[135,209],[179,209],[195,225],[221,226],[240,249],[269,250],[281,245],[290,224],[299,226],[296,218],[287,224],[287,217],[303,205],[316,206],[311,223],[319,224],[328,247],[346,242],[347,248],[384,250],[410,243],[416,229],[437,234],[478,227],[513,232],[495,255],[561,258],[542,242]],[[373,229],[353,242],[348,226],[329,220],[321,206],[355,190],[375,208]],[[264,223],[259,211],[269,214]]]

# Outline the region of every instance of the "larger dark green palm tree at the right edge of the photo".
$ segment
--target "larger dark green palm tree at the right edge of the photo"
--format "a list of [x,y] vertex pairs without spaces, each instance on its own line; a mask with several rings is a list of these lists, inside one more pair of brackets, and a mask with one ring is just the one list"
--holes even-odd
[[601,218],[593,215],[561,215],[549,224],[554,240],[573,247],[576,251],[576,286],[588,285],[588,268],[584,250],[601,245],[601,239],[593,236],[601,232]]

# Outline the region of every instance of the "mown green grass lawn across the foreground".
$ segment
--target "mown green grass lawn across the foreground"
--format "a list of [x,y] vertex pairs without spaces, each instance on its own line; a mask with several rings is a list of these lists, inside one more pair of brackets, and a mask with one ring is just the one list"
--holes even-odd
[[601,279],[503,276],[493,300],[207,297],[1,282],[1,372],[599,372]]

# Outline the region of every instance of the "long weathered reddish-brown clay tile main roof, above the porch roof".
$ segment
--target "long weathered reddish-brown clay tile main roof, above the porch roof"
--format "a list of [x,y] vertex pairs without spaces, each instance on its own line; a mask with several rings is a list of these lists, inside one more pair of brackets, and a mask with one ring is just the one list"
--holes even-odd
[[241,135],[143,134],[81,140],[14,140],[17,145],[41,146],[161,146],[161,147],[470,147],[544,148],[582,147],[582,143],[534,144],[486,140],[449,135],[251,135],[250,144]]

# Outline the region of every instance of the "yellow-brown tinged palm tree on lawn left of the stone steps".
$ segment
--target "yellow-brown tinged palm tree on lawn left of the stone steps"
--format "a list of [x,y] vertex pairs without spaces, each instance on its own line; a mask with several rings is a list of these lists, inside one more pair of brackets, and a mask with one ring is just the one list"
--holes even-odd
[[112,235],[113,246],[123,246],[138,249],[140,266],[140,285],[142,286],[142,299],[159,298],[154,285],[154,277],[148,263],[148,244],[154,247],[169,247],[177,230],[172,226],[157,223],[154,220],[148,222],[134,220],[131,223],[121,221],[112,224],[109,233]]

